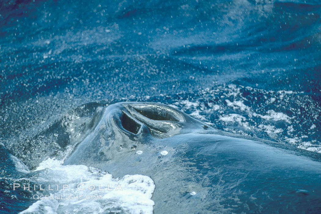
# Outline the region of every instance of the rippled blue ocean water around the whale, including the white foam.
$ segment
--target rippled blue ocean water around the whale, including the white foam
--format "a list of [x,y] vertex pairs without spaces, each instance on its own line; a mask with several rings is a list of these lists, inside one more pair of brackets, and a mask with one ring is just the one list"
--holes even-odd
[[[61,165],[96,110],[116,102],[165,103],[220,130],[320,153],[320,15],[316,0],[2,1],[1,212],[152,213],[151,178]],[[127,192],[46,204],[13,191],[18,181]]]

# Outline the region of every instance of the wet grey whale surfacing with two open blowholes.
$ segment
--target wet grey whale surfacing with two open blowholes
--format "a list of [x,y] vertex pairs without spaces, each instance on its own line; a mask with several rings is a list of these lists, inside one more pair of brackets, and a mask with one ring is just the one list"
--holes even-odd
[[321,210],[319,153],[226,133],[159,103],[109,105],[91,123],[64,164],[150,176],[154,213]]

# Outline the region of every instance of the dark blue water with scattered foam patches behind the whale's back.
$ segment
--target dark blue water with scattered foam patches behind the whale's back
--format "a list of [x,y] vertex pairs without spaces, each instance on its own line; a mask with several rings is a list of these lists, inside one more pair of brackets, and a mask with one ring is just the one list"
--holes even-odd
[[198,97],[185,96],[173,102],[215,128],[321,152],[316,140],[321,109],[303,92],[229,84],[206,88]]

